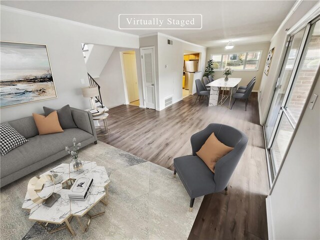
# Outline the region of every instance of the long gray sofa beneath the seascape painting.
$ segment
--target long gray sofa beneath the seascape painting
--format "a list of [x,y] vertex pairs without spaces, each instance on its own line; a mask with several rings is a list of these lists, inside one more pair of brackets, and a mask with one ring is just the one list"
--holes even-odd
[[73,137],[81,142],[81,147],[93,142],[96,144],[91,113],[71,107],[71,114],[77,128],[46,135],[39,135],[33,116],[8,122],[29,141],[1,156],[1,187],[67,155],[64,147],[72,145]]

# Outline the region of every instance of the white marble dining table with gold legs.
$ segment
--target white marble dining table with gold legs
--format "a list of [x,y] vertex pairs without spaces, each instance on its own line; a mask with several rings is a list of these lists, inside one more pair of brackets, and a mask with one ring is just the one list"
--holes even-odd
[[[210,87],[209,106],[223,106],[223,103],[227,100],[227,98],[229,98],[228,108],[230,108],[232,94],[235,93],[237,85],[240,81],[241,77],[229,77],[227,81],[224,80],[224,77],[221,77],[206,84],[206,86]],[[229,88],[227,95],[224,94],[226,88]],[[222,96],[219,100],[220,90],[222,90]]]

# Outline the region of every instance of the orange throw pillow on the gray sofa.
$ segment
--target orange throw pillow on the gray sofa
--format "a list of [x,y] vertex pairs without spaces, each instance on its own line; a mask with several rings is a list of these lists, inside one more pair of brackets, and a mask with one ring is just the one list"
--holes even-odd
[[34,118],[35,125],[38,128],[39,135],[63,131],[60,126],[58,114],[56,113],[56,111],[52,111],[47,116],[37,113],[32,113],[32,116]]

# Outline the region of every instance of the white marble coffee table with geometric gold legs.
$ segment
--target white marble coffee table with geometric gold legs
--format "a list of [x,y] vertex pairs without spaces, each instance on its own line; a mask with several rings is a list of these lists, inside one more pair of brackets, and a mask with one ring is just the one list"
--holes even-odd
[[[91,218],[102,215],[105,212],[108,184],[110,183],[108,174],[104,166],[97,166],[95,161],[82,161],[82,164],[83,167],[77,171],[73,169],[72,163],[62,163],[51,169],[63,177],[63,180],[55,184],[54,187],[54,192],[60,194],[61,196],[51,207],[44,206],[42,204],[35,204],[28,196],[28,193],[25,194],[22,208],[30,211],[29,220],[38,222],[50,233],[67,228],[72,235],[75,235],[75,232],[69,223],[73,216],[75,216],[81,229],[85,232],[90,224]],[[51,173],[50,171],[47,171],[43,174]],[[67,196],[69,188],[79,177],[93,178],[93,184],[90,193],[85,201],[69,200]],[[97,214],[90,215],[88,211],[98,202],[103,203],[104,210]],[[81,223],[80,219],[80,217],[83,215],[87,215],[89,217],[85,227]],[[49,231],[47,227],[48,223],[61,226]]]

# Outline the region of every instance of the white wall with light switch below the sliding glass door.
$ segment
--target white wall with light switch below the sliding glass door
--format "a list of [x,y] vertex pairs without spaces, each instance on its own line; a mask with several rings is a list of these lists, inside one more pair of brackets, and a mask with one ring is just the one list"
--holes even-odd
[[[320,78],[314,93],[320,95]],[[320,98],[306,108],[266,199],[269,239],[320,239]]]

